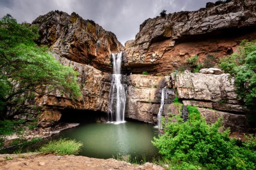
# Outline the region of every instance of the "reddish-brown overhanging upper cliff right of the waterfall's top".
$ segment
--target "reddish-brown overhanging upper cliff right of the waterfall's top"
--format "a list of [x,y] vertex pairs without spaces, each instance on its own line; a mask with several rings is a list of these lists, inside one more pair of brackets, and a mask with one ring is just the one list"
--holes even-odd
[[186,58],[207,54],[215,62],[237,49],[243,39],[256,39],[256,1],[232,0],[197,11],[182,11],[145,20],[135,40],[127,41],[127,68],[167,75]]

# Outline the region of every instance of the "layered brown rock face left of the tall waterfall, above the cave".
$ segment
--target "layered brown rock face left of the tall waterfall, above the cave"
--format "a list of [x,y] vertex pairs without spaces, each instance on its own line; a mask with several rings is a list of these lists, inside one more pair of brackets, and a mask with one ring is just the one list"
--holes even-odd
[[[59,91],[49,95],[37,96],[36,104],[43,108],[39,123],[42,126],[51,125],[60,120],[61,110],[77,109],[108,112],[109,90],[111,87],[111,75],[96,68],[70,61],[55,54],[63,65],[69,65],[78,71],[77,83],[80,85],[82,96],[73,100]],[[57,111],[56,111],[57,110]]]

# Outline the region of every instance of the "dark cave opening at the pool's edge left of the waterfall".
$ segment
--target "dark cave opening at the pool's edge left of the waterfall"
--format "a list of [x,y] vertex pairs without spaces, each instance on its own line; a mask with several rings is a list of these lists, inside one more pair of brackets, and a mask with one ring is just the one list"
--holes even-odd
[[105,112],[97,112],[91,110],[65,109],[61,112],[59,122],[66,123],[90,123],[90,122],[106,122],[108,114]]

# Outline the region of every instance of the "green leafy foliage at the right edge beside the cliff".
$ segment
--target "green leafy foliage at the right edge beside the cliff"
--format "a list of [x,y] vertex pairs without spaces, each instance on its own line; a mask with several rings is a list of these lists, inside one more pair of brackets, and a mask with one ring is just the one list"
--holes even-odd
[[256,112],[256,41],[243,40],[238,52],[222,58],[220,66],[235,76],[238,97]]

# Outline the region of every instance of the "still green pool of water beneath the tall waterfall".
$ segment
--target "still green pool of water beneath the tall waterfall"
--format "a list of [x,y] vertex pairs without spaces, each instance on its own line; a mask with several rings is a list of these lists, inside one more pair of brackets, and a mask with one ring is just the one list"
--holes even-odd
[[53,136],[76,139],[84,144],[79,155],[95,158],[111,158],[116,155],[146,156],[158,155],[151,140],[157,136],[154,126],[141,122],[88,123],[67,129]]

